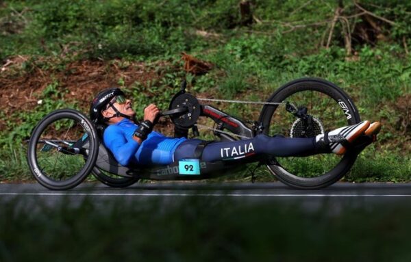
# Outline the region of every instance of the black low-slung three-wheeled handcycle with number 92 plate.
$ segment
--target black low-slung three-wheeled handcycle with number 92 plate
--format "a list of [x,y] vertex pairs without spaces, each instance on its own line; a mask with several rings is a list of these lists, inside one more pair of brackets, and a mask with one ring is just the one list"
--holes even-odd
[[[169,116],[174,125],[198,135],[200,117],[212,119],[216,140],[247,139],[258,134],[314,137],[327,130],[360,122],[351,98],[334,83],[319,78],[290,81],[266,102],[201,99],[186,92],[186,84],[171,99]],[[258,120],[246,121],[203,101],[262,105]],[[260,162],[279,181],[298,189],[332,185],[350,170],[368,141],[350,148],[343,156],[318,154],[299,157],[256,155],[232,161],[201,161],[198,156],[166,166],[121,166],[102,143],[103,125],[94,125],[74,109],[58,109],[40,120],[32,131],[27,150],[29,169],[43,186],[71,189],[90,174],[111,187],[127,187],[140,179],[198,180],[222,176]]]

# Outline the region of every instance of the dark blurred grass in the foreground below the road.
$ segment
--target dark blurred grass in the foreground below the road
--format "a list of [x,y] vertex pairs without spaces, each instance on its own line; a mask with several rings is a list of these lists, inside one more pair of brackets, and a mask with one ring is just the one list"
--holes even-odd
[[221,197],[43,200],[2,200],[1,261],[411,259],[410,209],[366,199],[310,209]]

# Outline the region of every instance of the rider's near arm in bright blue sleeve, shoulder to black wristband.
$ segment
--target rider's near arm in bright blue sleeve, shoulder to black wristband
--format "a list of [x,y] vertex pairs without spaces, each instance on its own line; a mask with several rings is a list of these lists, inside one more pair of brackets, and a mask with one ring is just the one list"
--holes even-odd
[[134,139],[127,140],[123,131],[115,126],[105,129],[103,139],[105,146],[110,149],[121,166],[127,166],[130,163],[141,144]]

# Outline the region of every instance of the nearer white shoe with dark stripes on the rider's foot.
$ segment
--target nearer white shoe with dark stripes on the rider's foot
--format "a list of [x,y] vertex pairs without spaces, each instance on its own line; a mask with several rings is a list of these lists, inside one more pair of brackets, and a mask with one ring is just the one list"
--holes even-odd
[[339,129],[316,135],[315,142],[321,147],[326,146],[334,154],[344,155],[349,144],[364,134],[369,127],[370,121],[365,120],[356,125],[340,127]]

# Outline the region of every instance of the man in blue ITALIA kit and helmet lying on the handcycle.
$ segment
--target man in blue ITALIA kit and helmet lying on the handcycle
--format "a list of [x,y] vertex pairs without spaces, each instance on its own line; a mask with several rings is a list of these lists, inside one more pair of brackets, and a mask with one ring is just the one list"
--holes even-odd
[[132,102],[119,88],[103,90],[92,101],[90,118],[95,124],[108,125],[103,142],[122,166],[166,165],[180,159],[193,158],[201,148],[201,160],[219,161],[242,159],[256,154],[278,157],[306,156],[319,153],[343,155],[347,147],[356,144],[360,135],[375,137],[381,129],[379,122],[368,120],[357,125],[340,127],[316,137],[290,138],[256,135],[232,142],[206,142],[186,137],[166,137],[153,131],[160,109],[151,104],[144,109],[143,121],[134,120]]

